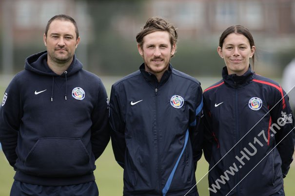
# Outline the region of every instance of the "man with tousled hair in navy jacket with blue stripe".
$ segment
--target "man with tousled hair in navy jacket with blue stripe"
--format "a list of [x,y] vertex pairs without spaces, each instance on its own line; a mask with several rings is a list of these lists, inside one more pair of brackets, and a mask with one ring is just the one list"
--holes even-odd
[[[196,185],[202,89],[169,64],[176,38],[165,20],[148,19],[137,36],[144,63],[112,86],[111,139],[124,196],[184,196]],[[197,195],[196,187],[187,194]]]

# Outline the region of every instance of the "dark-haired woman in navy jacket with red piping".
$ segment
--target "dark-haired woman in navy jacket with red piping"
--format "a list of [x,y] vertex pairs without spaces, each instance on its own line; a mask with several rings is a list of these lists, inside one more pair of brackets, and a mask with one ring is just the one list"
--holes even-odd
[[220,36],[223,79],[203,94],[210,196],[284,196],[294,118],[280,85],[251,69],[255,49],[241,25]]

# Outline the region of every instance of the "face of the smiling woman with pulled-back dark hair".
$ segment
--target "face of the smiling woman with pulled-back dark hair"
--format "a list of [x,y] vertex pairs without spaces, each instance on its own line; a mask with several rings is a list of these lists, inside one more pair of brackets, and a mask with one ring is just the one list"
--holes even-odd
[[246,36],[231,33],[225,37],[222,48],[218,46],[217,52],[224,59],[228,74],[243,75],[248,70],[255,46],[250,46]]

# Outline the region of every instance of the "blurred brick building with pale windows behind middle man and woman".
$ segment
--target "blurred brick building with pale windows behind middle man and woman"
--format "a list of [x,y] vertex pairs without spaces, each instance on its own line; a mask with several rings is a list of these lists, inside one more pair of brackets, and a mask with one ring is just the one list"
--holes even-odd
[[[295,34],[295,0],[145,0],[142,6],[146,18],[167,18],[187,38],[219,34],[233,24],[273,37]],[[127,36],[141,19],[117,17],[113,26]]]

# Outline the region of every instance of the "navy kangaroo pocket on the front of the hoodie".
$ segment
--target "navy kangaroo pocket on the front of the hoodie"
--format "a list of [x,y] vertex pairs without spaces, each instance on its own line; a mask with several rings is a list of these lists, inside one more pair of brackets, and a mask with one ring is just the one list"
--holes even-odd
[[91,172],[90,157],[79,138],[39,138],[25,160],[28,174],[71,177]]

